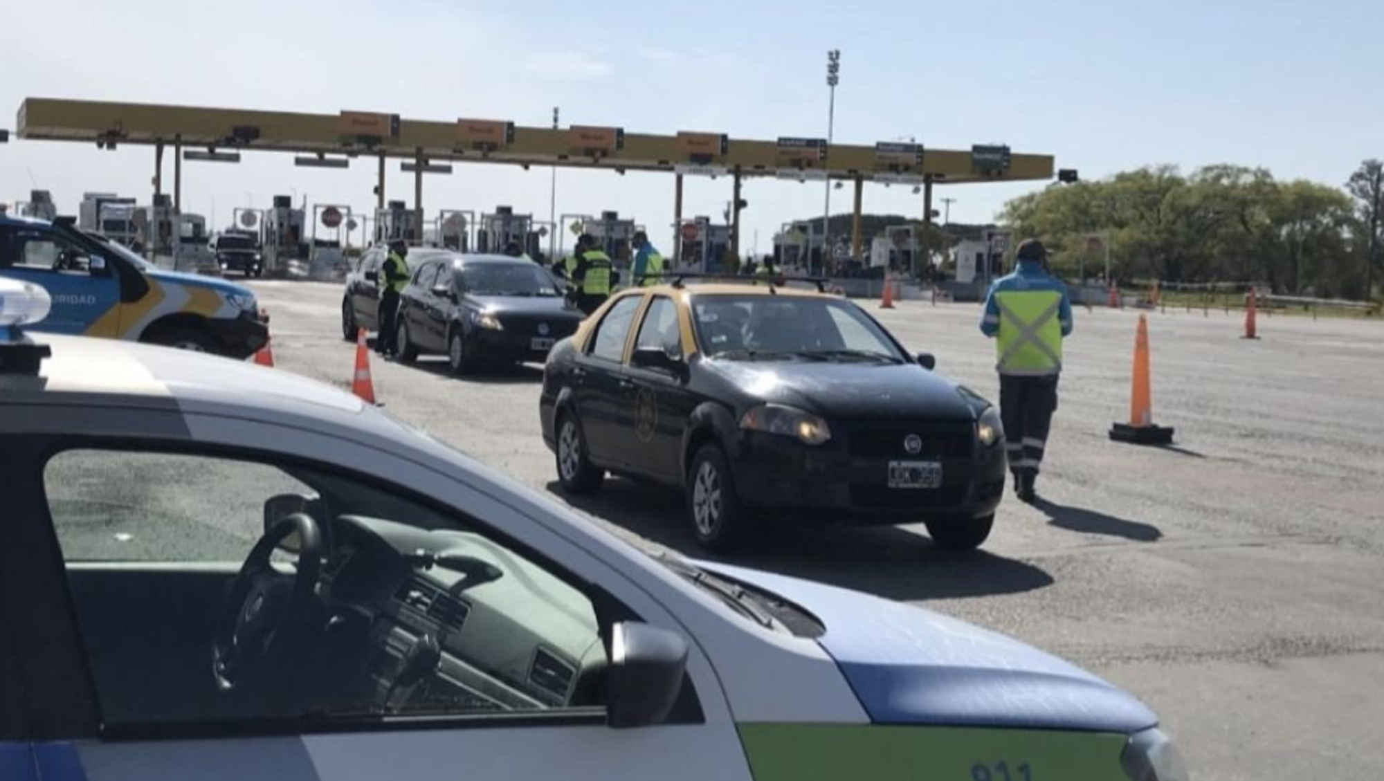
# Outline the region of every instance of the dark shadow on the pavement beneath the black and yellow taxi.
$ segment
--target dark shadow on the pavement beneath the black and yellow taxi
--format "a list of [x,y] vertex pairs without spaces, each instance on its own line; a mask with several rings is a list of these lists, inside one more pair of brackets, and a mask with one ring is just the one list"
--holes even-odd
[[682,496],[662,486],[608,479],[591,496],[569,496],[556,482],[548,490],[590,512],[688,558],[722,561],[818,580],[901,601],[1017,594],[1052,586],[1042,569],[984,550],[952,553],[926,532],[894,526],[793,526],[764,529],[757,546],[734,555],[703,551],[682,511]]

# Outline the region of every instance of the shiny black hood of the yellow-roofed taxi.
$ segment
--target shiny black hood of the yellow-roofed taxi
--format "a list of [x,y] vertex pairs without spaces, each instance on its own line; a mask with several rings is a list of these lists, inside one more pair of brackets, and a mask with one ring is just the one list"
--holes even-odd
[[976,420],[955,382],[912,363],[711,359],[707,366],[756,399],[828,418]]

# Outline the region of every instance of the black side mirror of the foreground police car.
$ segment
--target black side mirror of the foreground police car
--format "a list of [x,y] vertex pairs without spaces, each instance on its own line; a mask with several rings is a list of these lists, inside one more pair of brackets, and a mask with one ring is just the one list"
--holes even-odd
[[610,627],[606,723],[616,728],[664,723],[682,694],[686,663],[688,644],[677,633],[639,622]]

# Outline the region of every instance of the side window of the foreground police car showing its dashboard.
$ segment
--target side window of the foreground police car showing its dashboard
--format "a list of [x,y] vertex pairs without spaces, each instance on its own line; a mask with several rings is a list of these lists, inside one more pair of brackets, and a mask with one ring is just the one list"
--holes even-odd
[[[585,587],[473,518],[354,475],[185,453],[64,451],[44,490],[108,727],[602,708]],[[252,553],[271,550],[266,518],[303,515],[320,555],[298,535]]]

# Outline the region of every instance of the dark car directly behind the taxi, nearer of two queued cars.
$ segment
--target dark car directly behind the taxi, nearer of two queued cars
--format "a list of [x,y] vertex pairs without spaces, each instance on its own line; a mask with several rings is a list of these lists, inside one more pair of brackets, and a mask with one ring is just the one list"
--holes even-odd
[[399,357],[446,354],[457,374],[479,364],[548,357],[584,314],[541,266],[525,258],[410,255],[414,277],[399,302]]

